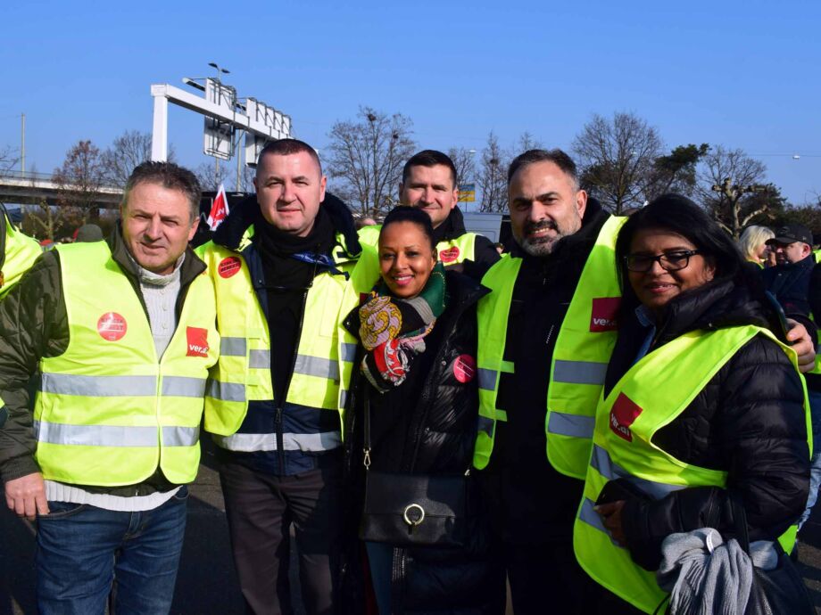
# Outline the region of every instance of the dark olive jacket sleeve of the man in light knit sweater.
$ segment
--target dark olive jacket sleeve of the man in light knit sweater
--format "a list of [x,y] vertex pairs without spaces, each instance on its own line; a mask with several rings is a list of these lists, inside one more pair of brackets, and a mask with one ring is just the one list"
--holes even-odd
[[54,251],[37,258],[0,301],[0,478],[13,480],[38,470],[33,454],[31,384],[41,357],[68,347],[69,329],[62,298],[60,265]]

